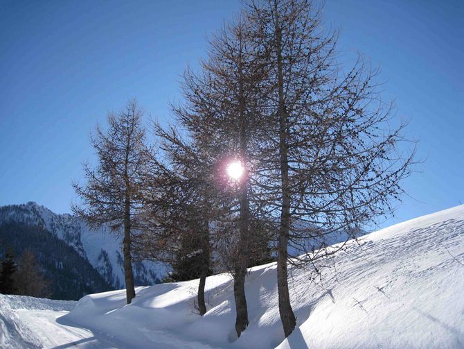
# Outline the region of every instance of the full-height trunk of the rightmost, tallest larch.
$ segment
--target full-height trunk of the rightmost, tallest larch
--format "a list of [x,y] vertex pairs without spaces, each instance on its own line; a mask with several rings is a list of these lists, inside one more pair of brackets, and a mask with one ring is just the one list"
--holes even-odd
[[279,26],[277,1],[274,1],[274,12],[276,20],[276,53],[278,74],[278,121],[279,121],[279,155],[280,176],[282,178],[282,211],[280,212],[280,229],[277,246],[277,288],[278,288],[278,310],[283,325],[285,337],[288,337],[296,325],[296,318],[290,304],[287,273],[287,248],[289,239],[290,223],[290,188],[288,167],[288,135],[287,135],[287,113],[283,92],[283,67],[282,67],[282,32]]

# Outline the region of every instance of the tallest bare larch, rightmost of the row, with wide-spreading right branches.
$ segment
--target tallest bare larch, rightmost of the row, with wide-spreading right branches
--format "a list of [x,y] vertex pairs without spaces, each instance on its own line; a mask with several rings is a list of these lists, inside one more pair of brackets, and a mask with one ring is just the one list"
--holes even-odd
[[[287,260],[311,264],[334,232],[353,237],[391,212],[402,193],[412,153],[402,154],[402,129],[389,127],[391,105],[377,93],[375,72],[359,59],[337,60],[337,33],[323,33],[321,8],[310,0],[256,0],[246,6],[249,33],[260,42],[269,70],[268,164],[257,180],[269,219],[278,224],[278,304],[285,337],[296,325]],[[305,255],[289,255],[289,242]]]

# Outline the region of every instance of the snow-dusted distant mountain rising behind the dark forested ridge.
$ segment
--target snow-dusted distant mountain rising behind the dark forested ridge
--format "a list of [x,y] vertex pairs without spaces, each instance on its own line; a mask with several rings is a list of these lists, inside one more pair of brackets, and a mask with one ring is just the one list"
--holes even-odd
[[[84,261],[105,280],[112,289],[123,289],[122,236],[110,232],[107,226],[91,230],[89,226],[71,214],[55,214],[46,207],[29,202],[23,205],[0,207],[0,228],[5,231],[8,225],[17,225],[16,231],[38,228],[48,232],[51,237],[60,239],[72,248]],[[20,230],[20,229],[19,229]],[[3,244],[8,245],[11,237],[3,232]],[[24,244],[28,244],[27,239]],[[166,274],[166,266],[154,262],[134,262],[134,284],[138,286],[155,284]]]

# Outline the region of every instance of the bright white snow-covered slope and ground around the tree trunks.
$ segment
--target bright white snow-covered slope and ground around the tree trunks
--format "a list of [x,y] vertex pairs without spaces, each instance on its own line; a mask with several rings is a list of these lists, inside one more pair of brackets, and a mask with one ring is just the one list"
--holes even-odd
[[[0,295],[1,348],[464,348],[464,205],[393,225],[311,269],[292,269],[297,328],[284,339],[276,265],[247,278],[250,324],[237,339],[229,275],[98,293],[77,304]],[[71,312],[70,312],[71,311]]]

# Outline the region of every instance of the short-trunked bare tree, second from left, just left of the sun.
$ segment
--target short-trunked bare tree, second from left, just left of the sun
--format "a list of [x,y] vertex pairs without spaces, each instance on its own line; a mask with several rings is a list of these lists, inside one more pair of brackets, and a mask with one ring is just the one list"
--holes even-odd
[[211,155],[199,139],[183,139],[175,128],[154,124],[159,153],[152,160],[145,192],[145,233],[139,255],[170,263],[180,280],[199,278],[197,307],[206,313],[204,288],[211,274],[211,221],[217,214]]

